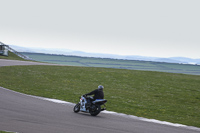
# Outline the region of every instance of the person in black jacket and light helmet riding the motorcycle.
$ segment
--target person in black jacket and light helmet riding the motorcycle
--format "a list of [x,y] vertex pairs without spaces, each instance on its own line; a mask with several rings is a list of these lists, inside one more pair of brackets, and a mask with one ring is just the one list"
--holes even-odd
[[90,101],[95,101],[96,99],[104,99],[104,92],[103,92],[104,87],[102,85],[99,85],[97,89],[95,89],[94,91],[85,94],[85,96],[87,97],[88,95],[94,95],[93,98],[89,98],[87,99],[88,101],[88,106],[90,106]]

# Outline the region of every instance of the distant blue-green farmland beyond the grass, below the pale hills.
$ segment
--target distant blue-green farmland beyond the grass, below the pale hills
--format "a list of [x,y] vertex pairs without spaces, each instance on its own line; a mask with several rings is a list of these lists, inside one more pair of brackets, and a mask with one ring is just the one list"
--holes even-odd
[[78,57],[78,56],[38,54],[38,53],[24,53],[24,54],[35,59],[36,61],[70,65],[70,66],[105,67],[105,68],[119,68],[119,69],[129,69],[129,70],[146,70],[146,71],[200,75],[199,65],[161,63],[161,62],[136,61],[136,60],[117,60],[117,59],[91,58],[91,57],[89,58],[89,57]]

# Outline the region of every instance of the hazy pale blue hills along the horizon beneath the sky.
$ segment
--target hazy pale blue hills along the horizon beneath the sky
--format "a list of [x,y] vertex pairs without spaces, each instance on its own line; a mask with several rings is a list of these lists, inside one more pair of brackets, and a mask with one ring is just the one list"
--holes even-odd
[[192,59],[185,57],[148,57],[138,55],[115,55],[115,54],[102,54],[102,53],[87,53],[83,51],[76,51],[70,49],[57,49],[57,48],[26,48],[15,45],[10,45],[19,52],[29,53],[45,53],[45,54],[63,54],[81,57],[95,57],[95,58],[111,58],[111,59],[124,59],[124,60],[140,60],[140,61],[153,61],[153,62],[167,62],[167,63],[182,63],[182,64],[200,64],[200,59]]

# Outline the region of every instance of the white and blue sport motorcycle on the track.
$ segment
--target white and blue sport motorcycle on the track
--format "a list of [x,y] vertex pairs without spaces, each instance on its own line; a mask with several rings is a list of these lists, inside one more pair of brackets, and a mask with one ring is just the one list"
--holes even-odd
[[[106,99],[96,99],[92,101],[92,97],[83,95],[80,98],[80,102],[74,106],[73,111],[75,113],[82,111],[85,113],[90,113],[92,116],[97,116],[101,111],[106,110],[106,102]],[[101,108],[101,106],[104,106],[104,108]]]

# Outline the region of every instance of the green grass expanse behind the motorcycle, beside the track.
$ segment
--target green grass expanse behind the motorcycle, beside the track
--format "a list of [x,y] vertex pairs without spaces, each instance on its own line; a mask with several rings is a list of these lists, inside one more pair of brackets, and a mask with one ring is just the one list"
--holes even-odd
[[200,127],[200,76],[75,66],[0,67],[0,86],[76,103],[104,85],[107,109]]

